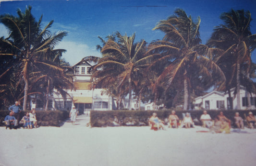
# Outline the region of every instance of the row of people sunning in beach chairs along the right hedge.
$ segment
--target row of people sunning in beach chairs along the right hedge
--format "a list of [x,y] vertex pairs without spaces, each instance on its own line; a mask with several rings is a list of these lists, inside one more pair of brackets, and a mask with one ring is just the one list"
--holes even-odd
[[[171,114],[169,115],[169,118],[168,118],[169,127],[178,128],[180,126],[180,127],[190,128],[194,126],[194,122],[192,117],[190,116],[190,113],[188,112],[185,113],[185,115],[183,115],[184,116],[183,120],[180,120],[180,118],[175,113],[176,113],[175,111],[171,111]],[[251,111],[249,112],[249,115],[246,117],[246,120],[249,124],[249,127],[251,129],[254,129],[256,118]],[[231,120],[229,120],[225,115],[223,115],[222,111],[219,112],[219,115],[214,120],[212,120],[210,115],[207,114],[207,111],[203,111],[203,114],[200,116],[200,122],[202,124],[202,127],[207,127],[212,132],[230,133]],[[165,129],[164,123],[165,123],[164,121],[161,121],[157,117],[156,112],[154,112],[149,119],[149,125],[151,129],[154,129],[154,130]],[[234,125],[238,129],[244,129],[244,120],[239,115],[239,112],[235,112]]]

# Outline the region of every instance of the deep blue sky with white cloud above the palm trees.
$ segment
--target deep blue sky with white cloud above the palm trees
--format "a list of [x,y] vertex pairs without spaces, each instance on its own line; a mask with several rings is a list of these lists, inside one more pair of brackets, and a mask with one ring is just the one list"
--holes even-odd
[[[193,19],[200,16],[202,44],[207,42],[214,26],[219,25],[219,15],[231,9],[249,10],[252,18],[251,32],[256,33],[256,0],[29,0],[2,1],[0,14],[16,15],[19,8],[32,6],[38,20],[43,14],[43,24],[54,20],[51,32],[68,31],[57,48],[66,49],[63,57],[74,65],[88,55],[100,56],[97,36],[106,37],[116,31],[136,34],[136,41],[147,43],[162,39],[163,33],[152,31],[159,20],[166,19],[176,8],[182,8]],[[7,30],[0,24],[0,36],[7,37]],[[256,62],[256,51],[252,55]]]

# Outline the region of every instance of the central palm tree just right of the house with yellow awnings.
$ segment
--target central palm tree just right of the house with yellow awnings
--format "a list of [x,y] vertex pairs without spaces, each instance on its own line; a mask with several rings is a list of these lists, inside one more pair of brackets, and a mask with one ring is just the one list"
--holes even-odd
[[[117,81],[119,90],[128,87],[129,109],[131,110],[132,90],[136,73],[148,66],[148,58],[144,56],[146,41],[134,43],[135,34],[128,37],[127,34],[121,35],[119,32],[115,38],[109,38],[101,49],[103,57],[94,67],[96,74],[101,81],[114,79]],[[108,76],[108,77],[107,77]],[[118,92],[120,93],[120,91]],[[125,92],[121,92],[125,94]]]

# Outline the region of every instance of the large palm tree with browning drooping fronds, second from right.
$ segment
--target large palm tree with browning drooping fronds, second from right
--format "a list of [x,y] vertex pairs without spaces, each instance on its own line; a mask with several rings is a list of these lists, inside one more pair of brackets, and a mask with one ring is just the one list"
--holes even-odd
[[[178,87],[183,85],[183,107],[184,110],[187,110],[190,94],[195,87],[193,80],[197,79],[197,82],[202,82],[205,77],[210,78],[215,72],[219,73],[220,79],[225,79],[219,66],[204,56],[213,52],[213,49],[200,44],[200,22],[199,17],[193,21],[185,11],[177,9],[174,11],[174,15],[167,20],[161,20],[153,29],[165,33],[163,40],[150,44],[146,53],[157,57],[157,60],[150,66],[151,68],[154,69],[157,66],[159,69],[160,66],[160,73],[154,87],[155,103],[158,86],[167,90],[173,85]],[[210,82],[210,80],[208,81]]]

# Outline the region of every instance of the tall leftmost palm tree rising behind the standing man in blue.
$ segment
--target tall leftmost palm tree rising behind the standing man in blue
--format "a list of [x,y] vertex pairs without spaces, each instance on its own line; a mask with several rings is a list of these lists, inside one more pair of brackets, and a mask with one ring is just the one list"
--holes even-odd
[[14,56],[18,60],[17,65],[21,71],[21,78],[24,81],[24,102],[23,110],[26,110],[27,95],[29,89],[29,77],[31,72],[38,64],[51,66],[41,61],[44,53],[52,50],[58,44],[67,32],[51,34],[49,28],[53,21],[49,22],[45,28],[41,28],[42,16],[37,22],[31,14],[32,7],[29,6],[23,13],[17,11],[18,17],[4,14],[0,16],[0,22],[3,23],[8,31],[8,39],[2,39],[2,42],[12,47],[12,53],[0,53],[1,56]]

